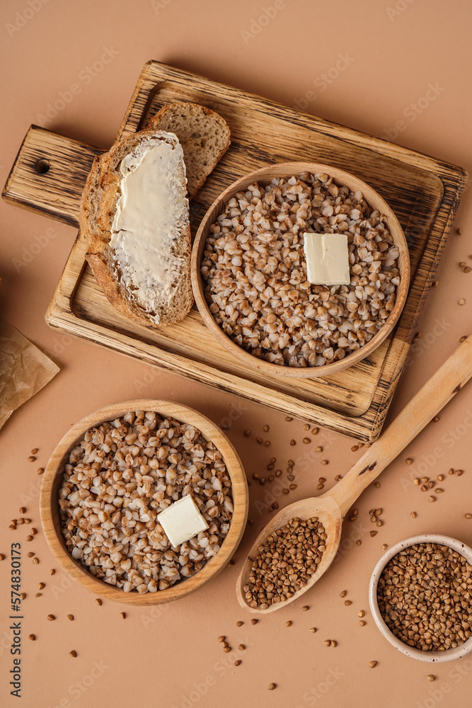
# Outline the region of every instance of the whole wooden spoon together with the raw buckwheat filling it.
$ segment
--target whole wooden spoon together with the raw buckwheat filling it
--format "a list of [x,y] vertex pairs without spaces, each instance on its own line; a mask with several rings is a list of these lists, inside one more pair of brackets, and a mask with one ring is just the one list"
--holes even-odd
[[[426,382],[338,484],[322,496],[280,510],[263,528],[236,585],[251,612],[273,612],[299,598],[325,573],[340,542],[341,525],[359,494],[415,438],[472,376],[472,336]],[[381,509],[375,509],[379,525]]]

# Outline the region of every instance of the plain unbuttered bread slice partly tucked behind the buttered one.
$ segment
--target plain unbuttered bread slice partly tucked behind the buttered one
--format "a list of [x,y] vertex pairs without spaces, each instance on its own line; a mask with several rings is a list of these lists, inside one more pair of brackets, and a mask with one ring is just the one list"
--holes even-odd
[[230,145],[226,121],[214,110],[197,103],[168,103],[151,118],[148,127],[173,132],[180,140],[190,198]]

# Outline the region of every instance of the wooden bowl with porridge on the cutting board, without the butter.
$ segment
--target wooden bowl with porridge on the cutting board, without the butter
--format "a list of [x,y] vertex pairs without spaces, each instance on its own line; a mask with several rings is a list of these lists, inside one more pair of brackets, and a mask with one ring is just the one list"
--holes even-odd
[[[311,285],[304,233],[347,235],[349,285]],[[364,359],[391,333],[408,294],[398,219],[366,183],[287,162],[238,179],[207,211],[192,287],[226,350],[267,374],[320,377]]]

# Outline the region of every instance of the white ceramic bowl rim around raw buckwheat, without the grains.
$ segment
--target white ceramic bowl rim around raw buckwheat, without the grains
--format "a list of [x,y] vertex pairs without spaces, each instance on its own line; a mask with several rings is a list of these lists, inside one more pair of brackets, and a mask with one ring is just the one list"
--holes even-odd
[[454,649],[447,649],[445,651],[421,651],[421,649],[415,649],[415,647],[409,646],[408,644],[405,644],[404,641],[401,641],[401,639],[398,639],[393,632],[388,629],[380,614],[379,605],[377,604],[377,585],[379,583],[379,578],[382,571],[384,571],[386,564],[393,558],[393,556],[396,556],[396,554],[404,548],[414,546],[418,543],[437,543],[442,546],[449,546],[449,548],[460,553],[461,556],[464,556],[464,558],[472,564],[472,548],[455,538],[443,536],[441,534],[424,534],[422,536],[412,536],[411,538],[407,538],[405,541],[401,541],[388,549],[388,551],[384,553],[379,562],[376,564],[369,583],[370,611],[372,612],[372,617],[374,617],[377,627],[379,627],[384,637],[388,639],[390,644],[395,646],[396,649],[399,649],[401,652],[406,654],[406,656],[419,659],[419,661],[430,661],[432,663],[454,661],[454,659],[460,659],[468,654],[469,651],[472,651],[472,636],[469,637],[464,644],[461,644],[461,646],[456,646]]

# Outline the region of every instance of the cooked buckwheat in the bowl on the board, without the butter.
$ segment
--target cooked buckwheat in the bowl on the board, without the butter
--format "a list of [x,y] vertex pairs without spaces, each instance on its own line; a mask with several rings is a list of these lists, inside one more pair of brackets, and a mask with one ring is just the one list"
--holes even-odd
[[[311,285],[304,233],[346,233],[350,285]],[[201,272],[224,333],[282,366],[321,366],[369,342],[400,284],[385,215],[324,173],[251,184],[209,229]]]

